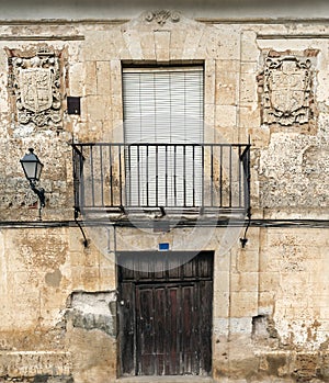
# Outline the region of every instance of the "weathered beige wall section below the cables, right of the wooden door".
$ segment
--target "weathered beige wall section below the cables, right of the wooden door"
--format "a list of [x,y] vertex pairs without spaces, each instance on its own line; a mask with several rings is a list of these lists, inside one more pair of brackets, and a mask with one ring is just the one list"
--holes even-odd
[[252,232],[248,250],[232,255],[230,288],[218,294],[226,291],[230,300],[222,303],[227,319],[215,328],[214,373],[248,382],[327,382],[328,229]]

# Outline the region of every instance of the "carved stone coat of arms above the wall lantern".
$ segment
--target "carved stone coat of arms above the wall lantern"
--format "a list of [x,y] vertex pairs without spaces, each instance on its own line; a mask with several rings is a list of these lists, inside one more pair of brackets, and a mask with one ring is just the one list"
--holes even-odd
[[20,124],[58,126],[61,122],[60,69],[46,48],[33,57],[11,57],[11,88]]

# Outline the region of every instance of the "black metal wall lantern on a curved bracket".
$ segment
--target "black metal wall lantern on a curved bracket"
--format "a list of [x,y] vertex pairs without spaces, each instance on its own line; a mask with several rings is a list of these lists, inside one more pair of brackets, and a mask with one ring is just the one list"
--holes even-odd
[[45,207],[45,190],[42,188],[37,189],[35,183],[39,180],[44,165],[33,151],[34,150],[30,148],[29,153],[20,160],[20,162],[24,170],[24,174],[30,182],[31,189],[38,196],[41,212],[42,207]]

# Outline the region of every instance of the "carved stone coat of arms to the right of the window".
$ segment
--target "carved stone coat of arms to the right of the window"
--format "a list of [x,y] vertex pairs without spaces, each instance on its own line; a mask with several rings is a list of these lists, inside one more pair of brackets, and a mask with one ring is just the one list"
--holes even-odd
[[309,57],[284,55],[265,57],[258,76],[262,123],[292,126],[314,117],[313,77]]

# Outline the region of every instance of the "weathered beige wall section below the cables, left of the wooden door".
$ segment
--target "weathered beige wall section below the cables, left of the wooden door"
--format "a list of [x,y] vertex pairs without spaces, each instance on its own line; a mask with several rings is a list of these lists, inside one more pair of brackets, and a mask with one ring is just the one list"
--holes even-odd
[[2,229],[0,267],[1,379],[115,375],[111,261],[76,228]]

